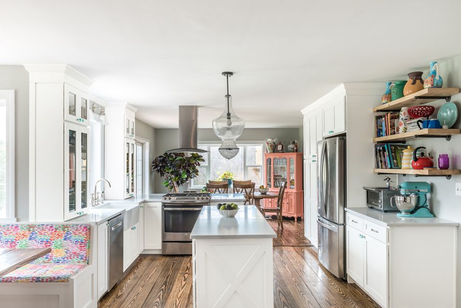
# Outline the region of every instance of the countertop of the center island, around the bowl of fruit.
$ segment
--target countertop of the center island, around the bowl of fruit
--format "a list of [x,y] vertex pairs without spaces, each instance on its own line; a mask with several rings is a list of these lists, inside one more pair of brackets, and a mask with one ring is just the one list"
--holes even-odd
[[215,206],[204,206],[191,233],[192,239],[275,237],[255,206],[241,206],[235,218],[222,217]]

